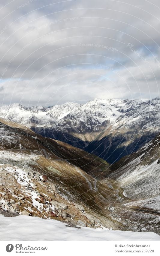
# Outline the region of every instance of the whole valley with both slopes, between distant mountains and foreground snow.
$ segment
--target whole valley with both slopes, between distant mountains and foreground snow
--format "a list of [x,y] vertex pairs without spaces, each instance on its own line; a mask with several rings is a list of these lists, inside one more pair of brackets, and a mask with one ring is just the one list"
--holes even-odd
[[159,234],[159,135],[109,165],[18,123],[0,125],[1,212]]

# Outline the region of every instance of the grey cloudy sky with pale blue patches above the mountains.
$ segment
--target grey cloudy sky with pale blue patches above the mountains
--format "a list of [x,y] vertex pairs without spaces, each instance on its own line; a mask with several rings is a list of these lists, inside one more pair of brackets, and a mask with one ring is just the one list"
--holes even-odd
[[158,0],[1,0],[1,105],[159,97]]

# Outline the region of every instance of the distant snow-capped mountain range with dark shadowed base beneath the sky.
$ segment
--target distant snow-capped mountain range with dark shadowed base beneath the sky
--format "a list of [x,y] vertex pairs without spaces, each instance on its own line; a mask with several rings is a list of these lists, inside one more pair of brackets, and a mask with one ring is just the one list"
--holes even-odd
[[113,163],[158,134],[159,107],[159,98],[95,99],[47,108],[13,104],[0,107],[0,116]]

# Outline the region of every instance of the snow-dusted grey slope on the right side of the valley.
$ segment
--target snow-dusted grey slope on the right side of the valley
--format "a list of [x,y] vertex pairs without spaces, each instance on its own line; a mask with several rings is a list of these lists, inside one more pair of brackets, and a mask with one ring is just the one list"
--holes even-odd
[[160,233],[160,134],[110,169],[107,177],[114,179],[124,198],[112,208],[113,213],[134,220],[135,227],[145,220],[146,230]]

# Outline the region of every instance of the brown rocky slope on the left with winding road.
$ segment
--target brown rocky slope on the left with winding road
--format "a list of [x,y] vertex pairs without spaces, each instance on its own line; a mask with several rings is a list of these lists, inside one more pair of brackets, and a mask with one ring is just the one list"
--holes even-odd
[[113,191],[96,178],[108,172],[105,161],[22,125],[4,119],[0,125],[1,213],[118,228],[104,208],[116,200]]

